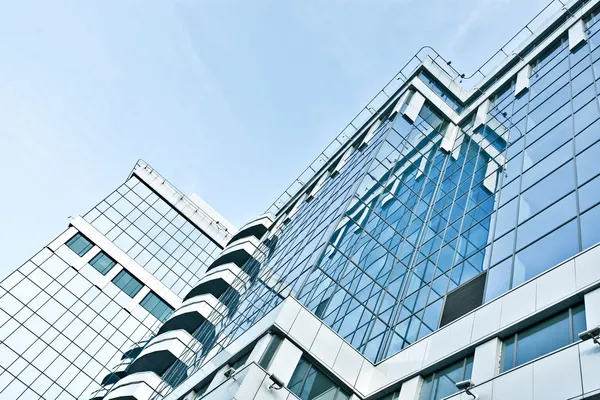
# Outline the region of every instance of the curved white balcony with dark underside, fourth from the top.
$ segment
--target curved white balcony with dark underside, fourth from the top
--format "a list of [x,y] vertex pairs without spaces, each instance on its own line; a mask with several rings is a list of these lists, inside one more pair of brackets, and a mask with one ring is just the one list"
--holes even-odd
[[158,330],[158,334],[183,329],[190,335],[205,321],[208,321],[213,312],[225,315],[227,307],[212,294],[203,294],[184,301],[181,306],[165,321]]

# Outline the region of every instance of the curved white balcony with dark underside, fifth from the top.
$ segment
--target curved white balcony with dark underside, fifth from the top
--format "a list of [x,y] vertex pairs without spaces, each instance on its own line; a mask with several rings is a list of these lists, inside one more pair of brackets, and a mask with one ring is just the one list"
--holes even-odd
[[198,342],[184,330],[165,332],[156,336],[129,367],[129,374],[150,371],[162,375]]

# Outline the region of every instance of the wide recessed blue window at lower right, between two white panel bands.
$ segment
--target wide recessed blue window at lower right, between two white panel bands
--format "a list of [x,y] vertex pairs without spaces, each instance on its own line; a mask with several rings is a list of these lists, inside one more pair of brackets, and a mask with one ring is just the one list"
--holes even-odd
[[502,371],[574,343],[585,329],[585,308],[580,304],[515,333],[504,340]]

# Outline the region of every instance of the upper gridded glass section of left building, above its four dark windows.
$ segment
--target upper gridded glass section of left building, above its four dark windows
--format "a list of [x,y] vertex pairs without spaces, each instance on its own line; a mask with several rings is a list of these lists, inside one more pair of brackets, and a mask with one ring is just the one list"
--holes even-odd
[[136,176],[84,219],[180,297],[221,251]]

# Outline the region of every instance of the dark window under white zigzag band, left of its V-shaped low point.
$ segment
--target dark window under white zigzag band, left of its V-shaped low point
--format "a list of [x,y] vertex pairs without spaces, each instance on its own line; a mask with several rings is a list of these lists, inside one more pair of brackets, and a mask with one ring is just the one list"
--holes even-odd
[[288,388],[302,400],[348,400],[350,395],[304,357],[300,359]]

